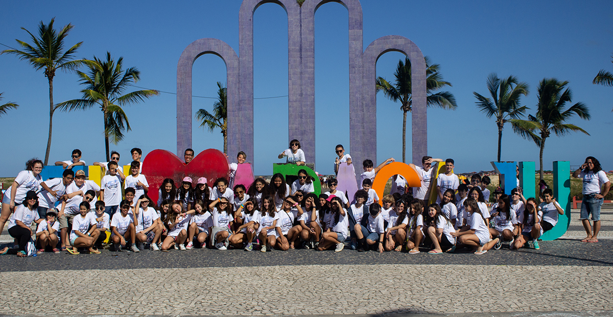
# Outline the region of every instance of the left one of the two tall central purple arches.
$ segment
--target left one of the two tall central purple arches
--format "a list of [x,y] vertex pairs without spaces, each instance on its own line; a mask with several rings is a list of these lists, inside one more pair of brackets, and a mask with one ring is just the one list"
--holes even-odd
[[[296,121],[305,120],[300,113],[302,98],[300,72],[300,7],[295,0],[244,0],[238,13],[238,55],[240,64],[240,109],[237,120],[230,126],[228,123],[228,153],[232,161],[236,161],[235,153],[244,151],[248,158],[253,158],[253,13],[257,7],[266,3],[276,3],[287,13],[287,58],[288,58],[288,91],[289,91],[289,137],[300,136],[295,131]],[[298,111],[297,111],[298,110]],[[230,114],[228,113],[228,117]],[[306,121],[305,121],[306,122]],[[308,125],[308,124],[307,124]],[[308,135],[297,137],[306,153],[314,151],[313,142]],[[232,142],[230,142],[232,140]],[[289,143],[289,142],[288,142]],[[314,154],[313,154],[314,155]],[[309,156],[307,156],[308,161]],[[253,161],[252,161],[253,162]]]

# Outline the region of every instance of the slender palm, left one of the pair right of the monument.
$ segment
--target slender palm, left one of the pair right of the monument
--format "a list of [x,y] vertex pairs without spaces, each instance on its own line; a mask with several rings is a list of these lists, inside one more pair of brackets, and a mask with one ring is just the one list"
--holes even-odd
[[477,98],[477,108],[485,113],[488,118],[495,116],[496,125],[498,126],[498,162],[500,162],[500,147],[502,142],[502,129],[504,124],[511,119],[519,119],[524,116],[528,109],[525,105],[520,106],[519,101],[522,96],[528,94],[528,84],[518,82],[513,75],[500,80],[498,75],[492,73],[487,77],[487,90],[490,91],[490,96],[481,96],[473,91],[474,97]]

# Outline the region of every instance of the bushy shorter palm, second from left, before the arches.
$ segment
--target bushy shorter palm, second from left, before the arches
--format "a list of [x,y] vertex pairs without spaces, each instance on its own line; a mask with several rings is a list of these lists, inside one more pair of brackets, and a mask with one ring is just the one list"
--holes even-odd
[[56,105],[63,111],[87,110],[99,105],[104,116],[104,145],[109,159],[109,139],[113,144],[123,140],[123,131],[131,131],[128,116],[123,106],[144,101],[144,98],[158,95],[157,90],[137,90],[123,94],[132,82],[138,82],[140,72],[135,67],[123,71],[123,57],[113,60],[107,52],[107,59],[102,61],[94,56],[89,61],[87,72],[77,72],[82,85],[85,85],[82,99],[64,101]]

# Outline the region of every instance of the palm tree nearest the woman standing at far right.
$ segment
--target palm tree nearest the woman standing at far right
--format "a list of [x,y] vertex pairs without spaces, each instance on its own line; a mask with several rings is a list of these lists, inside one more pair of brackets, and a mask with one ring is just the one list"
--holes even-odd
[[[536,115],[528,115],[528,120],[513,119],[511,125],[524,139],[530,139],[541,148],[539,163],[541,164],[540,179],[543,180],[543,150],[547,137],[553,132],[556,136],[565,136],[570,132],[584,132],[584,129],[570,123],[565,123],[574,115],[584,120],[590,120],[590,112],[587,105],[577,102],[568,109],[565,105],[572,102],[573,93],[566,88],[568,82],[561,82],[555,78],[544,78],[538,86],[538,104]],[[536,132],[536,133],[535,133]]]

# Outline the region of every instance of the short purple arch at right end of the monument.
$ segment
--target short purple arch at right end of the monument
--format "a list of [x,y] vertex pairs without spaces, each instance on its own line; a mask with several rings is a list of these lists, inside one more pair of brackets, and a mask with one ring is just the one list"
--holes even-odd
[[[413,130],[413,162],[421,162],[421,158],[428,153],[428,122],[426,113],[425,91],[425,61],[424,55],[413,41],[403,36],[379,37],[368,45],[362,58],[363,88],[364,94],[362,107],[350,110],[354,112],[355,123],[351,126],[359,126],[362,129],[351,129],[355,135],[351,137],[351,151],[354,153],[354,143],[357,153],[364,154],[376,162],[377,155],[377,99],[375,90],[376,64],[381,55],[387,52],[400,52],[405,54],[411,61],[411,82],[413,87],[413,110],[411,111],[411,125]],[[362,158],[356,158],[361,162]]]

